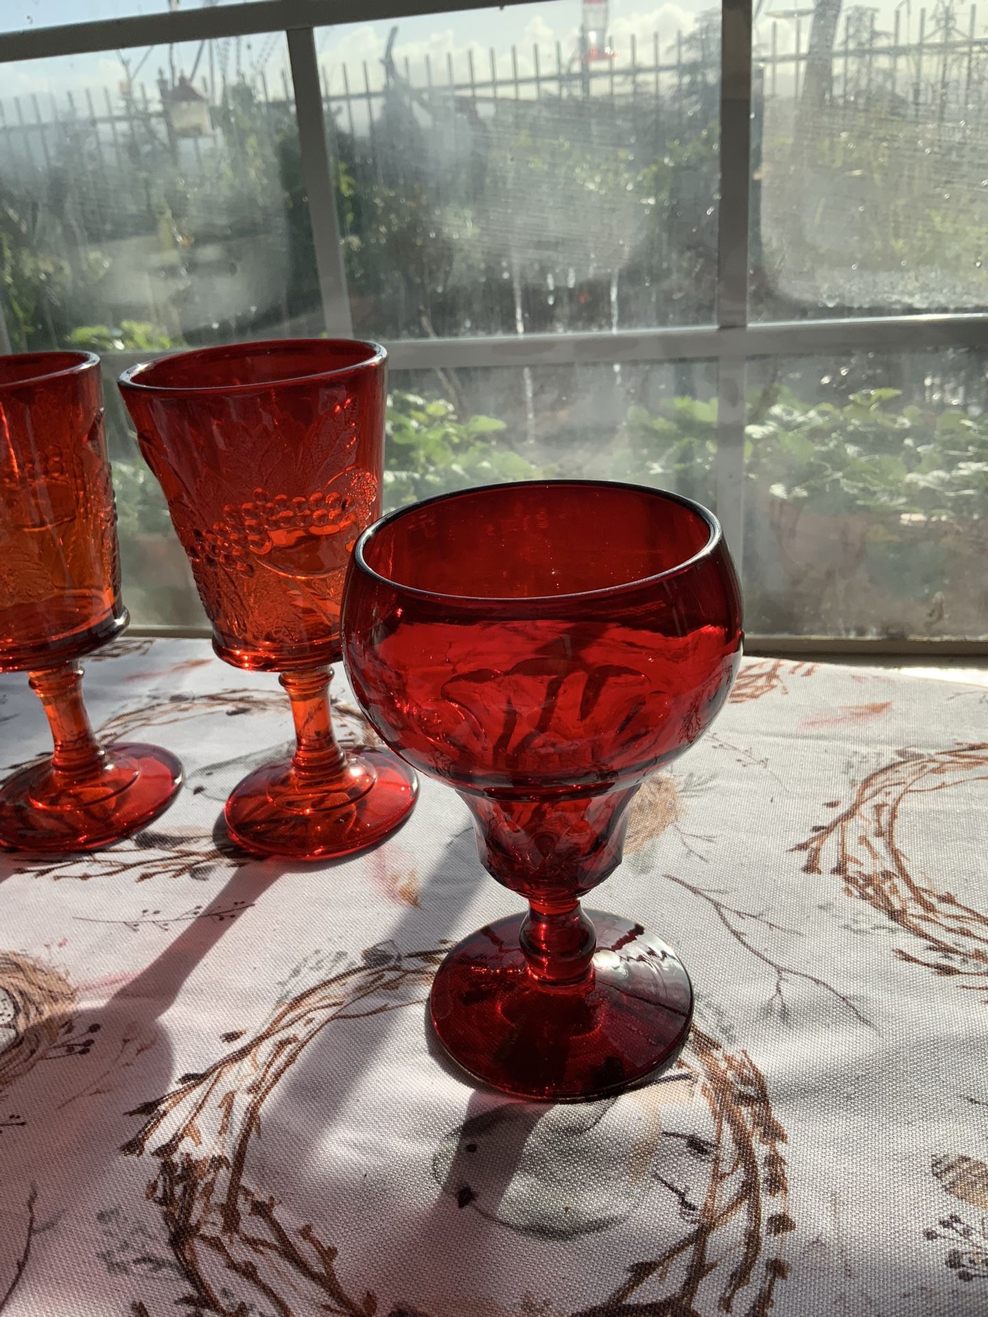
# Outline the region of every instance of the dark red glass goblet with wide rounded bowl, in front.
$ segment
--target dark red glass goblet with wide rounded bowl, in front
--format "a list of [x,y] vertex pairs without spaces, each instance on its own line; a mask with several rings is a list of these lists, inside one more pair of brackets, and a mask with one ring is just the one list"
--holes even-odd
[[617,1092],[674,1059],[693,992],[676,954],[580,898],[620,863],[648,773],[727,698],[740,593],[717,520],[632,485],[452,494],[357,541],[344,657],[383,740],[470,807],[481,860],[530,905],[436,975],[436,1034],[519,1097]]

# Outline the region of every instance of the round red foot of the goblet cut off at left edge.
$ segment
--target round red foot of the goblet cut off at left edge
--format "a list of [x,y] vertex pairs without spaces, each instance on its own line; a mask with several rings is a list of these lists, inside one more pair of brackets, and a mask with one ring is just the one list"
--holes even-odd
[[182,765],[158,745],[108,745],[99,770],[75,781],[50,761],[25,768],[0,789],[0,847],[97,851],[155,819],[180,786]]

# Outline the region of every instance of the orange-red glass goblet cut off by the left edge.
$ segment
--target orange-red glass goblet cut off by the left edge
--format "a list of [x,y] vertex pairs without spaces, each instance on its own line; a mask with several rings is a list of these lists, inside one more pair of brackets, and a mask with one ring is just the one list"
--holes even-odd
[[0,357],[0,672],[29,673],[55,743],[0,790],[0,846],[94,851],[174,799],[174,755],[103,748],[86,716],[78,660],[126,623],[99,358]]

